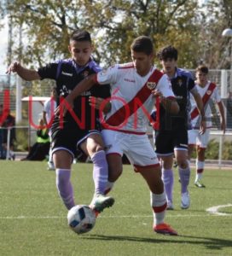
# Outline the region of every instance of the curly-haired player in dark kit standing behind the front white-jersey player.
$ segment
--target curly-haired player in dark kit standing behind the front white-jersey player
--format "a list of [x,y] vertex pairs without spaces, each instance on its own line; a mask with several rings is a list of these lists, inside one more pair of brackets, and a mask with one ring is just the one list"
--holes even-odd
[[[188,163],[188,129],[191,125],[189,117],[189,94],[194,96],[200,113],[203,113],[203,104],[200,95],[196,90],[191,73],[177,68],[177,49],[172,46],[161,49],[158,53],[163,72],[171,80],[171,88],[176,96],[180,111],[173,116],[165,111],[162,105],[159,105],[159,127],[156,128],[155,146],[156,153],[163,161],[162,178],[165,184],[167,196],[167,209],[173,209],[172,188],[173,188],[173,154],[177,159],[178,171],[181,188],[181,207],[187,209],[190,205],[188,193],[188,183],[190,177],[190,168]],[[205,123],[202,122],[201,128],[205,131]]]

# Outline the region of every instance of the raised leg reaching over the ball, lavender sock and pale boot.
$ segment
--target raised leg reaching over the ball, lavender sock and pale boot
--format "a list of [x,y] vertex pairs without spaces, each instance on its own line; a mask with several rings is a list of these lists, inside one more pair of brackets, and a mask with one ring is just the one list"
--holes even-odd
[[90,206],[96,212],[102,212],[105,207],[112,207],[114,200],[111,196],[105,196],[108,180],[107,158],[104,150],[102,137],[97,133],[92,133],[80,145],[84,152],[90,155],[93,162],[93,179],[95,183],[95,195],[90,203]]

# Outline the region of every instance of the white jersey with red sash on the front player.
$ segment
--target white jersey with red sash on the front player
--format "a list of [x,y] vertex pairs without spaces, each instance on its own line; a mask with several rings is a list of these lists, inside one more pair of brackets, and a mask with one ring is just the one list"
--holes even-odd
[[117,64],[97,73],[98,84],[111,84],[112,108],[104,128],[142,134],[147,131],[148,119],[154,108],[157,89],[165,97],[174,97],[167,76],[151,67],[144,77],[136,73],[133,63]]

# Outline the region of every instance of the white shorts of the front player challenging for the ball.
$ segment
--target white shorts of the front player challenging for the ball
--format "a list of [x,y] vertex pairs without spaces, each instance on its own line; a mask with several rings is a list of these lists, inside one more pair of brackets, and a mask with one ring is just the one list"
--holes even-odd
[[106,154],[125,154],[135,171],[141,168],[159,166],[148,135],[129,134],[120,131],[103,130],[102,137],[106,145]]

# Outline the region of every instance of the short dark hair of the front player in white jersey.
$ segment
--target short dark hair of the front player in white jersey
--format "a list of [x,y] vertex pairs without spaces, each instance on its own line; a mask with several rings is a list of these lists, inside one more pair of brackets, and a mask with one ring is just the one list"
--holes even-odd
[[136,52],[143,52],[146,55],[151,55],[154,52],[152,39],[146,36],[138,37],[131,44],[131,49]]

